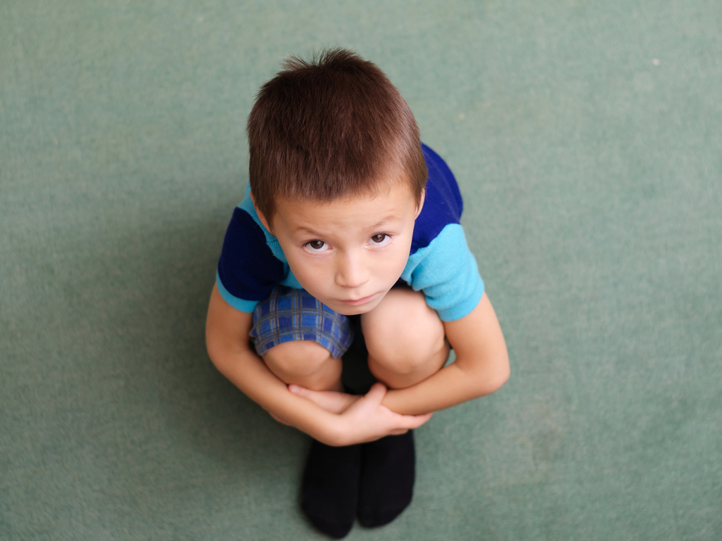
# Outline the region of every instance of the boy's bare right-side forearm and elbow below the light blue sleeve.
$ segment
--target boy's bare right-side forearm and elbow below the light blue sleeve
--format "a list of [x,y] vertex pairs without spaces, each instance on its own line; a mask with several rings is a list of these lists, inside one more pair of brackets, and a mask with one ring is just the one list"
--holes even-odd
[[489,395],[506,382],[509,356],[487,294],[469,315],[444,327],[456,361],[412,387],[386,393],[387,408],[404,414],[441,410]]

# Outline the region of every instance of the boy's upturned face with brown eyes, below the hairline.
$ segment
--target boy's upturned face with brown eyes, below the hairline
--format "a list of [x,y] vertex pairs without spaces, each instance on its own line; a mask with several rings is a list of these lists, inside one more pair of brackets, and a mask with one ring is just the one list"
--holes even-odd
[[282,199],[272,227],[261,221],[304,289],[354,315],[374,309],[401,276],[420,210],[410,188],[396,182],[331,202]]

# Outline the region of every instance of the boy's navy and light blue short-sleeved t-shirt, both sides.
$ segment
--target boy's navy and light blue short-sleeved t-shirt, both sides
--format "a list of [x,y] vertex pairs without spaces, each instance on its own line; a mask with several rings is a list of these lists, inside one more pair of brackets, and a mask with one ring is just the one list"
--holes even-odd
[[[459,320],[479,304],[484,282],[459,223],[464,203],[456,179],[438,154],[423,144],[422,149],[429,171],[426,197],[401,279],[424,293],[441,320]],[[279,283],[303,289],[277,238],[258,219],[249,188],[225,234],[218,289],[235,309],[253,312]]]

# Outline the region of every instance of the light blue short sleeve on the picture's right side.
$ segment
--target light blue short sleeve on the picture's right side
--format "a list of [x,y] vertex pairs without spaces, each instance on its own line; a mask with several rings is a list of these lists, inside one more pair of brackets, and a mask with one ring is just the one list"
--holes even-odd
[[423,291],[442,321],[469,315],[484,294],[477,260],[459,224],[448,224],[427,247],[412,254],[401,278],[415,291]]

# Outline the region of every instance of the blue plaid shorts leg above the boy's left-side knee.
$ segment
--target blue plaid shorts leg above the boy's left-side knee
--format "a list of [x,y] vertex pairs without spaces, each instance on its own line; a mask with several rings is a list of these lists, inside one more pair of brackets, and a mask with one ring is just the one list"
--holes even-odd
[[313,340],[339,359],[354,339],[349,318],[334,312],[304,289],[276,286],[253,311],[251,338],[258,355],[293,340]]

